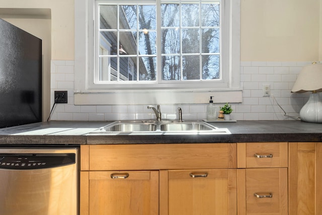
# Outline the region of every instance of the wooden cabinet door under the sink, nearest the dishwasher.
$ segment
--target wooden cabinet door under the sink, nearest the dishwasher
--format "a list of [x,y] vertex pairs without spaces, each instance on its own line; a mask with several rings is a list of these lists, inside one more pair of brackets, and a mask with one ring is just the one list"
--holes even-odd
[[81,190],[81,203],[89,202],[81,214],[158,214],[158,171],[92,171],[88,177],[87,185],[81,178],[81,189],[88,187],[88,198]]

